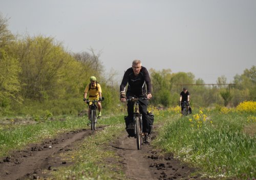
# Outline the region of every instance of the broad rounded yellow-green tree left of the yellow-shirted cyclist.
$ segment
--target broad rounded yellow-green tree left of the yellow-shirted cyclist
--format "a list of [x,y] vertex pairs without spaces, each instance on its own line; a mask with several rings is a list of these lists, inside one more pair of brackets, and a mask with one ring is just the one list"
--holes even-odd
[[20,80],[25,98],[43,101],[58,88],[60,71],[68,54],[51,37],[26,37],[19,41],[16,55],[22,66]]

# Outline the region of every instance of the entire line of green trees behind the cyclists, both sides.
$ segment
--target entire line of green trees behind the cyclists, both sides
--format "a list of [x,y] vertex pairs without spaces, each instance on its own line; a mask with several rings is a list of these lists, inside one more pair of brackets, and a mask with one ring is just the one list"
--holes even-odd
[[[106,75],[100,54],[91,48],[88,52],[72,53],[52,37],[42,35],[20,37],[8,30],[8,19],[0,15],[0,115],[40,114],[48,110],[53,115],[78,114],[84,109],[83,90],[90,76],[100,81],[103,108],[116,109],[119,84],[115,72]],[[202,86],[202,79],[192,73],[172,73],[170,69],[150,70],[153,99],[156,106],[178,104],[180,87],[187,86],[191,103],[196,106],[211,104],[237,105],[243,100],[255,100],[255,66],[236,75],[235,86]],[[224,76],[218,84],[226,83]],[[239,97],[239,98],[237,98]]]

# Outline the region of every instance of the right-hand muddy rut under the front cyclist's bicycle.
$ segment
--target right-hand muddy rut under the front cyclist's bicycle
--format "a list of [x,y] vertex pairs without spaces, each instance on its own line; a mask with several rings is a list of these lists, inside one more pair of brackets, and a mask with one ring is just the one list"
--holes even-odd
[[[152,139],[156,134],[152,134]],[[137,150],[135,138],[127,137],[127,134],[112,142],[113,150],[120,156],[120,166],[129,179],[204,179],[191,168],[173,157],[173,154],[165,154],[160,150],[153,149],[150,144],[142,145]]]

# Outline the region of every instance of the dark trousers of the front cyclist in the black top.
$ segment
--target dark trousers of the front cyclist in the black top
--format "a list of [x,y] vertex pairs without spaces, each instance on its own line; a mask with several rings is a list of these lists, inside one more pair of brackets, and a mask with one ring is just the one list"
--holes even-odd
[[[127,96],[128,99],[132,98]],[[142,132],[149,132],[150,131],[150,125],[148,124],[148,115],[146,113],[147,111],[147,99],[145,100],[139,100],[139,111],[142,115]],[[133,120],[133,113],[134,113],[134,102],[129,101],[127,103],[127,113],[130,120]]]

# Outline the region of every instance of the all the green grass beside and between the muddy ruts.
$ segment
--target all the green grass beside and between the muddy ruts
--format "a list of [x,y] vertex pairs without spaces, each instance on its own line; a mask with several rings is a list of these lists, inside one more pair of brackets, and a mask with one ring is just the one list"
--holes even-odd
[[[255,102],[245,102],[236,108],[201,108],[194,110],[193,115],[187,117],[181,117],[180,107],[166,110],[150,107],[149,110],[155,115],[155,124],[160,127],[159,135],[152,144],[166,153],[173,152],[176,158],[197,167],[206,177],[255,178],[255,107]],[[79,150],[72,152],[69,157],[70,161],[81,160],[81,157],[85,157],[87,161],[75,161],[79,163],[56,172],[56,177],[65,175],[80,178],[87,174],[94,178],[98,178],[99,175],[106,178],[121,178],[122,173],[112,172],[111,169],[114,167],[109,167],[110,165],[106,165],[102,160],[115,156],[112,152],[105,151],[104,143],[114,140],[115,134],[124,130],[123,114],[117,117],[110,116],[102,123],[108,127],[97,136],[85,139]],[[57,133],[83,127],[84,121],[77,117],[43,120],[26,125],[2,125],[0,156],[8,154],[10,150],[23,148],[26,144],[54,137]],[[101,172],[102,166],[109,167],[110,171]]]

